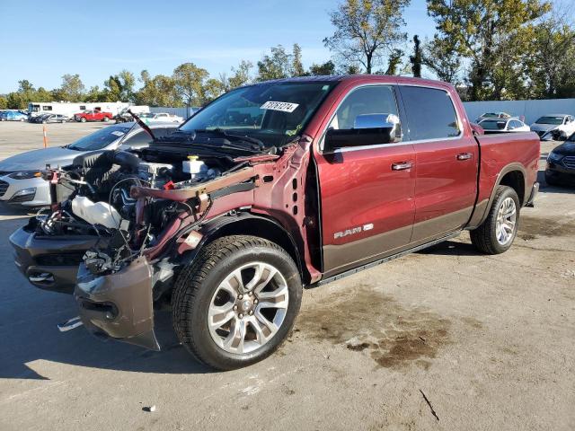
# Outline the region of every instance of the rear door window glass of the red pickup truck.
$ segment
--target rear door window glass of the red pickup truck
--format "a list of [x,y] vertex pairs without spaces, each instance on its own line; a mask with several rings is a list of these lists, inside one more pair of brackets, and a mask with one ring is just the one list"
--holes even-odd
[[458,136],[456,109],[447,92],[401,86],[411,141]]

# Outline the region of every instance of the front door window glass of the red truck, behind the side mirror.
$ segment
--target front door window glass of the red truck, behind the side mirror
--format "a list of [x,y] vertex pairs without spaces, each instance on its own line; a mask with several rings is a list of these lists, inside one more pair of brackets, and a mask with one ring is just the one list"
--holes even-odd
[[360,87],[341,102],[330,128],[351,129],[359,115],[393,114],[399,117],[394,91],[387,85]]

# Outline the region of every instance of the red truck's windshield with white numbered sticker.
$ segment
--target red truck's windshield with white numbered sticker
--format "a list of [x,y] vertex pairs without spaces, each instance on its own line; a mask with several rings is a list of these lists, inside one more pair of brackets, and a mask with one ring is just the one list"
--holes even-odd
[[281,146],[298,135],[336,82],[270,82],[224,94],[191,117],[182,131],[226,130]]

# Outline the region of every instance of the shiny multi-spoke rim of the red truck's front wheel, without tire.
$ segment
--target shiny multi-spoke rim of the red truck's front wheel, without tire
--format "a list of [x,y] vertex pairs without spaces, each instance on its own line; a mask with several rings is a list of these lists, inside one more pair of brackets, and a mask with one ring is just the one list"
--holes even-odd
[[217,286],[209,303],[209,334],[228,353],[250,353],[278,332],[288,303],[288,283],[279,270],[268,263],[248,263]]

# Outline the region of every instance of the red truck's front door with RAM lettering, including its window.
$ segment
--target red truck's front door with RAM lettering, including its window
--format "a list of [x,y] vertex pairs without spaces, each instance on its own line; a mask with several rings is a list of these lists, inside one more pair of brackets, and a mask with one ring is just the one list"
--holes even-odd
[[[400,118],[394,85],[351,90],[329,129],[358,129],[374,114]],[[363,116],[363,117],[361,117]],[[322,206],[323,273],[331,277],[408,248],[415,216],[415,154],[403,142],[401,122],[391,142],[358,135],[354,145],[315,155]]]

